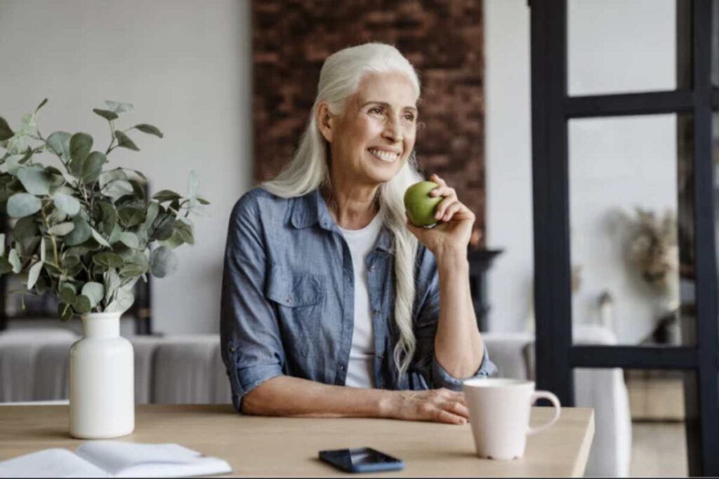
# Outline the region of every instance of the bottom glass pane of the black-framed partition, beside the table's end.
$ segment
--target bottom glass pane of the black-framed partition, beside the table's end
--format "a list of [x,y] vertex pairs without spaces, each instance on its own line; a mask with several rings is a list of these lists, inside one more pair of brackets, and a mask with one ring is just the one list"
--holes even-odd
[[687,417],[692,414],[685,411],[695,407],[690,404],[695,376],[683,371],[574,369],[575,405],[595,410],[585,476],[686,477]]

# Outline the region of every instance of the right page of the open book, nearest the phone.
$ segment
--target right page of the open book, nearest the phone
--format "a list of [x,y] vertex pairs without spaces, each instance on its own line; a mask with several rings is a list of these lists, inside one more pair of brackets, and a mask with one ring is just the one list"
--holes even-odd
[[180,477],[232,470],[223,460],[177,444],[91,441],[75,452],[116,477]]

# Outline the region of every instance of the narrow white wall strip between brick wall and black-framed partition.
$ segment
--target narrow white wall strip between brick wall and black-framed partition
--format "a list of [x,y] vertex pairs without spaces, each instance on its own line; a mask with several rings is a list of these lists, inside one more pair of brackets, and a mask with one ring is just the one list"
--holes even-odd
[[527,327],[533,282],[529,9],[485,0],[487,246],[490,330]]

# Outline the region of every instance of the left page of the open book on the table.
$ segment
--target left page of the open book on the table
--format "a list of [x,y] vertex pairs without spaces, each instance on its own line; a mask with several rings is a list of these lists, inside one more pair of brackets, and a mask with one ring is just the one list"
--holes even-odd
[[109,478],[66,449],[46,449],[0,462],[0,478]]

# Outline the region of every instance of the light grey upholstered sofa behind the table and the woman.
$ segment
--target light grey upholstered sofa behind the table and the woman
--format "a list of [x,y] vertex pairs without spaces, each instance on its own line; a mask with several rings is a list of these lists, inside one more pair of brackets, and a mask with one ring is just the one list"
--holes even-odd
[[[575,328],[575,342],[611,344],[596,327]],[[533,335],[485,333],[498,376],[533,379]],[[224,404],[229,381],[218,335],[135,336],[137,404]],[[0,332],[0,403],[68,398],[68,350],[75,332],[28,329]],[[621,370],[583,369],[574,381],[577,406],[595,409],[596,432],[587,476],[626,477],[631,452],[631,419]]]

